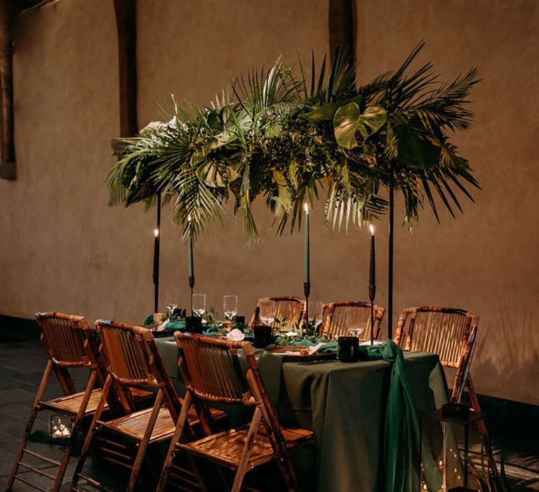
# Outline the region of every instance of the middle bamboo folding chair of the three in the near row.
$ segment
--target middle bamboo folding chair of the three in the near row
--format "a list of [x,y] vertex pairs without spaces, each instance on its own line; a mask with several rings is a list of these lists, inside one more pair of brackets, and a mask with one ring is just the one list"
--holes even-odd
[[[102,320],[95,322],[95,328],[98,330],[102,348],[109,363],[108,374],[93,415],[91,432],[86,435],[69,491],[81,490],[78,488],[79,479],[86,480],[88,484],[96,488],[102,488],[99,481],[82,474],[86,455],[93,439],[102,431],[107,431],[107,434],[112,434],[121,442],[128,443],[122,445],[111,439],[106,440],[110,446],[108,448],[109,461],[131,470],[126,491],[132,491],[138,480],[140,467],[149,444],[164,441],[173,434],[175,422],[180,415],[181,400],[166,373],[152,332],[139,326]],[[157,389],[154,405],[151,408],[138,410],[105,422],[101,420],[101,415],[107,395],[114,385],[119,387],[119,393],[140,387]],[[211,413],[208,419],[225,415],[218,410],[211,410]],[[190,432],[190,426],[196,425],[199,417],[194,410],[189,413],[188,417]],[[114,444],[117,446],[115,451]],[[126,450],[132,450],[133,453],[128,453]],[[130,454],[135,455],[134,462]]]

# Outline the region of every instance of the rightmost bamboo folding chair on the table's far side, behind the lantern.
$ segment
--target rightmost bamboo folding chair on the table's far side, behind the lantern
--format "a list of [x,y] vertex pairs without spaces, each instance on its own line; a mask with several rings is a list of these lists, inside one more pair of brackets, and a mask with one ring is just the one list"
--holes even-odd
[[[437,354],[441,365],[456,369],[451,401],[460,402],[466,387],[472,408],[481,411],[470,375],[478,324],[479,316],[464,309],[434,306],[407,308],[399,316],[394,341],[405,350]],[[486,435],[482,420],[478,422],[478,427],[481,434]]]

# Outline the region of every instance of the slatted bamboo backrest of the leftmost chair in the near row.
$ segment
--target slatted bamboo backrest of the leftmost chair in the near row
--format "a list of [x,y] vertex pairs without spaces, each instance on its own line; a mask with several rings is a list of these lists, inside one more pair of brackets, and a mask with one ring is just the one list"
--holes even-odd
[[84,342],[91,325],[84,316],[47,312],[36,313],[41,342],[51,361],[60,368],[91,367]]

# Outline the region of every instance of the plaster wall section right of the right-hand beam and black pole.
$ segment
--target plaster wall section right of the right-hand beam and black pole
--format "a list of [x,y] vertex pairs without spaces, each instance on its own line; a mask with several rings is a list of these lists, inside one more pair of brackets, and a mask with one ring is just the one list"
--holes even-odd
[[359,79],[391,69],[420,39],[420,61],[449,79],[479,67],[472,131],[455,137],[482,191],[436,224],[425,212],[396,238],[395,302],[479,314],[473,363],[481,393],[539,403],[539,4],[516,1],[357,2]]

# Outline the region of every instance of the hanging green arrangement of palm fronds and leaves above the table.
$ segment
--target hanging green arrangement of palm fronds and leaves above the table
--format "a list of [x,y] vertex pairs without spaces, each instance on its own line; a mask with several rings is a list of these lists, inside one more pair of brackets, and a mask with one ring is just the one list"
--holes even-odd
[[151,206],[161,193],[172,202],[173,224],[197,235],[233,200],[250,241],[258,237],[251,205],[260,196],[278,233],[300,228],[303,202],[322,191],[325,221],[338,228],[384,214],[390,185],[404,198],[409,226],[425,197],[437,219],[436,195],[453,216],[462,212],[458,193],[472,200],[467,186],[479,185],[449,137],[470,127],[477,70],[448,84],[432,63],[408,73],[422,46],[364,86],[338,49],[319,70],[313,56],[308,75],[299,58],[290,66],[279,56],[269,71],[238,77],[208,108],[173,98],[168,122],[123,141],[109,205]]

